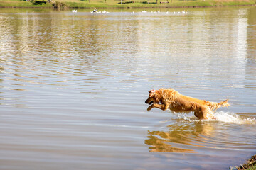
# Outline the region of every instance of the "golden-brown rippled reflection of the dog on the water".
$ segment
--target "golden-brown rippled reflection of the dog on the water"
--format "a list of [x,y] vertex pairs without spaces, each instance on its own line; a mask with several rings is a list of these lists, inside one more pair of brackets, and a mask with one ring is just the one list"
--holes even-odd
[[195,145],[195,143],[204,143],[203,136],[212,136],[214,132],[213,125],[213,122],[201,121],[185,125],[177,125],[176,123],[168,126],[170,128],[168,132],[148,131],[145,143],[149,145],[150,152],[193,153],[195,151],[191,148],[205,147]]

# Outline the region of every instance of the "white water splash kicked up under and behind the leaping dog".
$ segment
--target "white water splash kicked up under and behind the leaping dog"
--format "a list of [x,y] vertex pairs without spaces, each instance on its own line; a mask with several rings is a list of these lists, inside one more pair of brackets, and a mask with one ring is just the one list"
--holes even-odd
[[214,113],[214,118],[208,120],[198,120],[193,113],[174,113],[172,118],[180,121],[189,121],[189,122],[196,122],[196,121],[218,121],[223,123],[236,123],[236,124],[256,124],[256,118],[245,118],[244,116],[230,113],[230,112],[216,112]]

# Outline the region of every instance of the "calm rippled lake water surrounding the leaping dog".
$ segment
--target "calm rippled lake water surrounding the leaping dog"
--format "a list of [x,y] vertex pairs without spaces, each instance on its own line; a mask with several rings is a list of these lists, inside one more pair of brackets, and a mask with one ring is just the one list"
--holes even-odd
[[[256,153],[255,6],[108,11],[0,9],[0,169],[227,169]],[[146,111],[162,87],[231,106]]]

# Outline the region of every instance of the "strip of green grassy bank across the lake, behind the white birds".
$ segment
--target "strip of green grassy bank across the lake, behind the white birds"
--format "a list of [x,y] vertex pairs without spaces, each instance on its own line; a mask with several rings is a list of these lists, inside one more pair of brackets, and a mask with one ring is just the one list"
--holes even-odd
[[255,5],[256,0],[0,0],[9,8],[178,8]]

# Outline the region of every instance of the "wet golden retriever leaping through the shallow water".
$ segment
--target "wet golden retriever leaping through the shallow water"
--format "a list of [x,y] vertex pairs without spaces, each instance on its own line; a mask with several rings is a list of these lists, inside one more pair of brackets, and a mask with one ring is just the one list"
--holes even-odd
[[194,115],[201,119],[213,118],[213,113],[220,107],[230,106],[228,100],[220,103],[203,101],[197,98],[183,96],[174,89],[159,89],[149,91],[149,98],[145,103],[151,105],[147,108],[160,108],[163,111],[169,109],[178,113],[193,112]]

